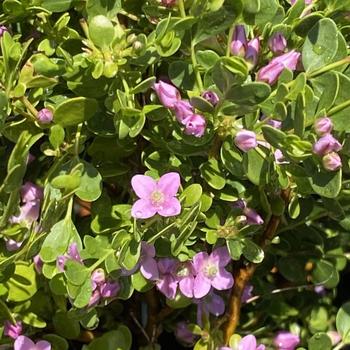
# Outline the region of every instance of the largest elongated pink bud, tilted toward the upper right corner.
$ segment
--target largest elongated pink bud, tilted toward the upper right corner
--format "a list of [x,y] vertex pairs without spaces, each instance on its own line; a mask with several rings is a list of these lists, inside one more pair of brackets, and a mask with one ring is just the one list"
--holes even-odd
[[268,65],[259,70],[257,80],[265,81],[270,85],[274,84],[285,68],[292,71],[296,69],[299,57],[300,53],[295,50],[275,57]]

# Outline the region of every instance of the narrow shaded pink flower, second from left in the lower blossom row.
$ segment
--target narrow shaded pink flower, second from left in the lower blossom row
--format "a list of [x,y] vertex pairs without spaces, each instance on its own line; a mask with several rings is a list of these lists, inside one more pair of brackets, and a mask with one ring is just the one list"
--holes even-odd
[[177,261],[175,259],[163,258],[158,261],[159,279],[156,282],[157,288],[168,298],[176,296],[178,280],[174,275]]

